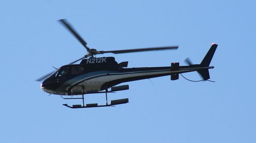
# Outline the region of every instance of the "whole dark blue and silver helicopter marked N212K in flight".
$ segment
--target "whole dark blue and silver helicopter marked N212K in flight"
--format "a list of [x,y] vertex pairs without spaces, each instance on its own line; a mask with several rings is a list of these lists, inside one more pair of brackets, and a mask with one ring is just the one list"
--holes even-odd
[[[135,80],[143,80],[168,75],[171,76],[171,80],[178,80],[179,74],[182,75],[182,73],[197,71],[203,78],[199,81],[211,81],[209,80],[209,69],[213,69],[214,67],[209,67],[209,65],[218,46],[217,44],[212,43],[212,46],[210,47],[208,53],[205,55],[204,59],[200,64],[192,64],[190,59],[187,58],[185,59],[185,62],[188,64],[186,66],[180,66],[179,63],[171,63],[171,66],[169,67],[127,68],[128,61],[117,63],[114,57],[96,58],[94,56],[104,53],[120,54],[142,51],[171,50],[178,49],[178,46],[125,49],[115,51],[97,51],[96,49],[90,49],[89,47],[87,47],[86,41],[82,39],[82,37],[74,30],[74,28],[67,22],[66,19],[58,20],[58,22],[64,25],[64,27],[66,27],[66,29],[68,29],[72,33],[72,35],[74,35],[74,37],[76,37],[76,39],[86,48],[88,53],[82,58],[73,61],[68,65],[61,66],[60,68],[54,68],[55,71],[52,71],[36,79],[36,81],[42,81],[40,88],[44,92],[47,92],[49,94],[60,95],[62,98],[63,96],[71,96],[70,98],[63,99],[82,99],[82,105],[78,104],[69,106],[68,104],[62,104],[66,107],[92,108],[126,104],[129,102],[128,98],[111,100],[109,104],[107,94],[115,93],[116,91],[121,90],[128,90],[129,85],[117,85]],[[80,60],[81,62],[79,64],[74,64]],[[97,103],[93,103],[85,105],[84,95],[96,93],[106,94],[106,104],[98,105]],[[73,96],[82,97],[73,98]]]

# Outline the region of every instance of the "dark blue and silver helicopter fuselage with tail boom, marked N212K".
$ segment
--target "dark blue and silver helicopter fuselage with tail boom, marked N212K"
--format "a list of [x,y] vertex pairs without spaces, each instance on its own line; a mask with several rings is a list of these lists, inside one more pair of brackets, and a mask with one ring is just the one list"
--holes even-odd
[[[125,63],[125,64],[122,64]],[[84,59],[80,64],[65,65],[57,69],[41,84],[50,94],[82,95],[97,93],[123,82],[167,76],[211,67],[179,66],[124,68],[128,62],[118,64],[114,57]]]

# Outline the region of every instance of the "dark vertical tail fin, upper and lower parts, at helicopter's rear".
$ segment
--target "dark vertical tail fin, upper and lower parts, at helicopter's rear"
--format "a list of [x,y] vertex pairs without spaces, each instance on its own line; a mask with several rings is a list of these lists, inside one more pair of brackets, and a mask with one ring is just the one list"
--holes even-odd
[[[212,45],[208,53],[205,55],[203,61],[201,62],[200,67],[209,67],[217,46],[218,46],[217,44]],[[198,73],[202,76],[202,78],[204,78],[204,80],[210,79],[210,74],[208,69],[199,70]]]

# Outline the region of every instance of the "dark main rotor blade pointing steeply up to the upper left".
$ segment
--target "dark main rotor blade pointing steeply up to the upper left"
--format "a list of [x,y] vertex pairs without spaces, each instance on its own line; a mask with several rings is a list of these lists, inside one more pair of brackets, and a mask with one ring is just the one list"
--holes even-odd
[[82,39],[82,37],[78,35],[78,33],[74,30],[74,28],[71,27],[71,25],[68,24],[68,22],[65,19],[58,20],[58,22],[63,24],[76,37],[76,39],[78,39],[78,41],[86,48],[88,52],[90,51],[90,48],[86,46],[87,43],[84,41],[84,39]]

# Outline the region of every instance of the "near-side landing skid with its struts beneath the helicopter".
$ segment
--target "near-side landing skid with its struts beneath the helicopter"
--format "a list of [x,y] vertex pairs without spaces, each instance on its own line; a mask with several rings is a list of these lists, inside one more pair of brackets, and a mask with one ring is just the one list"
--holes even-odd
[[84,95],[82,95],[82,98],[62,98],[63,99],[82,99],[83,100],[83,105],[72,105],[72,106],[68,106],[68,104],[62,104],[68,108],[92,108],[92,107],[108,107],[108,106],[114,106],[114,105],[118,105],[118,104],[126,104],[129,102],[128,98],[124,98],[124,99],[118,99],[118,100],[111,100],[110,104],[108,104],[108,96],[107,96],[108,90],[106,90],[106,105],[98,105],[98,103],[94,103],[94,104],[86,104],[86,106],[84,106]]

